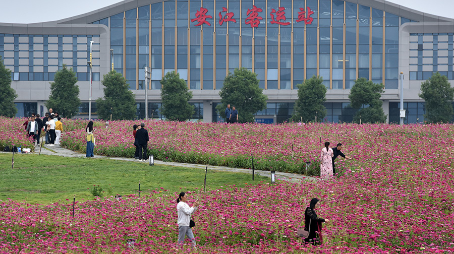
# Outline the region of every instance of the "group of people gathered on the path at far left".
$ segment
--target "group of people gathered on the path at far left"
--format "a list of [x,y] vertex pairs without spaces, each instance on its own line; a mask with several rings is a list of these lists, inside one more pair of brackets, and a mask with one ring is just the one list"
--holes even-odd
[[60,145],[60,137],[63,132],[62,118],[58,112],[49,112],[41,119],[39,114],[32,113],[28,119],[22,123],[25,126],[27,136],[33,138],[33,144],[40,144],[41,133],[45,132],[45,144],[48,146]]

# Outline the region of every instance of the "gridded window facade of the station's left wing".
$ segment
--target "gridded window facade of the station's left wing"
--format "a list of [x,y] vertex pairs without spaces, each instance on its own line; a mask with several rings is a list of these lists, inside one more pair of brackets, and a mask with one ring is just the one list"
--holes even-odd
[[63,65],[73,68],[78,81],[89,81],[91,40],[92,79],[99,81],[99,35],[0,34],[0,55],[13,81],[53,81]]

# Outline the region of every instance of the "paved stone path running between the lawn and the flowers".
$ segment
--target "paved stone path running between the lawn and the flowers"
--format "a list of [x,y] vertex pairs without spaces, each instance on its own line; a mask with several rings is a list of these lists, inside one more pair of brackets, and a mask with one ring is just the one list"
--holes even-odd
[[[39,146],[35,147],[35,154],[39,152]],[[49,147],[47,145],[42,146],[41,154],[45,155],[57,155],[57,156],[64,156],[64,157],[83,157],[85,158],[85,154],[78,153],[71,151],[69,149],[63,148],[59,145],[55,145],[53,147]],[[94,158],[102,158],[102,159],[111,159],[111,160],[122,160],[122,161],[132,161],[137,163],[147,163],[147,162],[139,162],[137,159],[134,158],[121,158],[121,157],[107,157],[102,155],[95,155]],[[168,166],[178,166],[178,167],[188,167],[188,168],[201,168],[205,169],[208,166],[210,169],[215,169],[219,171],[229,171],[229,172],[238,172],[238,173],[252,173],[252,169],[244,169],[244,168],[232,168],[232,167],[220,167],[220,166],[209,166],[209,165],[201,165],[201,164],[190,164],[190,163],[179,163],[179,162],[167,162],[167,161],[160,161],[154,160],[154,164],[156,165],[168,165]],[[254,170],[256,174],[260,174],[262,176],[271,177],[269,171],[264,170]],[[315,177],[300,175],[300,174],[292,174],[292,173],[283,173],[283,172],[276,172],[276,179],[291,181],[291,182],[298,182],[301,180],[317,180]]]

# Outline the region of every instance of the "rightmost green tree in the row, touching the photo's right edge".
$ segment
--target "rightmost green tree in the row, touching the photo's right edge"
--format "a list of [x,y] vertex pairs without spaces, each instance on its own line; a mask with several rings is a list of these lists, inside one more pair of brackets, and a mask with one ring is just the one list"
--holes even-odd
[[422,82],[419,97],[426,101],[424,118],[427,122],[449,122],[452,120],[454,88],[451,87],[446,76],[436,72],[429,80]]

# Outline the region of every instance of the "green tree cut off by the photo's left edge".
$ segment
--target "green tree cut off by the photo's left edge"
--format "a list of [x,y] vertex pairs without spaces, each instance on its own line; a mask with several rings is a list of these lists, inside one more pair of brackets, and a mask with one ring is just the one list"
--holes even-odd
[[17,98],[16,91],[11,87],[11,71],[6,69],[0,56],[0,115],[14,117],[17,108],[14,99]]

